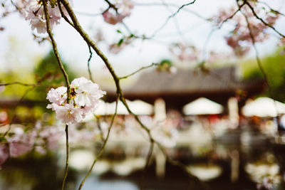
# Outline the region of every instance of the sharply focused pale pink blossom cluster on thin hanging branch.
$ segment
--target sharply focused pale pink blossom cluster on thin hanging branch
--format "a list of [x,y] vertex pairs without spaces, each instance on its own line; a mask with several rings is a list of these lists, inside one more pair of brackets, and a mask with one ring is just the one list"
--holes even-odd
[[56,112],[56,118],[71,125],[82,122],[86,115],[93,113],[105,91],[100,90],[99,85],[91,80],[81,77],[71,82],[69,94],[68,98],[66,87],[51,88],[46,99],[51,102],[47,108]]

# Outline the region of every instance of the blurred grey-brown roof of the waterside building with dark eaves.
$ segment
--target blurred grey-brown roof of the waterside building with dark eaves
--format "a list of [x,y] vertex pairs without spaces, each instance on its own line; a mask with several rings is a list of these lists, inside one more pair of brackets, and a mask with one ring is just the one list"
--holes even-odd
[[[123,88],[128,100],[143,100],[153,104],[157,98],[165,100],[167,108],[181,110],[183,105],[206,97],[227,105],[229,97],[242,92],[242,100],[261,93],[264,80],[242,80],[236,67],[202,69],[178,69],[177,73],[141,73],[132,85]],[[108,90],[107,101],[115,101],[115,91]],[[244,101],[241,101],[243,104]]]

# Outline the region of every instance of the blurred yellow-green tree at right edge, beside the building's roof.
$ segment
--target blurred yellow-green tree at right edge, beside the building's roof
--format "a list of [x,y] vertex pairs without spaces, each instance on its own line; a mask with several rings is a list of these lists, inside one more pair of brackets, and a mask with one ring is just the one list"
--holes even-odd
[[[271,56],[261,59],[264,71],[269,79],[272,95],[275,100],[285,102],[285,53],[284,48],[279,48]],[[245,79],[263,78],[255,60],[242,63]],[[269,96],[267,89],[263,95]]]

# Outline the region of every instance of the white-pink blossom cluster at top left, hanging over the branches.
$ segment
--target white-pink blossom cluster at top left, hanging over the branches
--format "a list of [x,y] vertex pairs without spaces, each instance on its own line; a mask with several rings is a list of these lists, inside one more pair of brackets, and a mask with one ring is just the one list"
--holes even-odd
[[[71,1],[72,4],[72,0]],[[17,8],[24,16],[26,21],[30,21],[31,29],[38,33],[46,33],[46,16],[43,12],[43,3],[38,0],[19,0],[16,3]],[[63,13],[66,14],[66,9],[63,9]],[[51,28],[54,25],[60,23],[61,11],[58,9],[58,4],[54,0],[48,1],[48,14]]]

